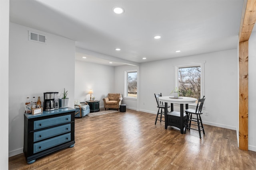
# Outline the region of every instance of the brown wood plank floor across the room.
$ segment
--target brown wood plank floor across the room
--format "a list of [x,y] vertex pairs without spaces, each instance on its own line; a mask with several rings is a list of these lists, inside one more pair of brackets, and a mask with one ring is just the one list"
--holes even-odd
[[256,152],[239,150],[236,131],[205,125],[180,134],[154,114],[127,109],[75,119],[75,146],[27,164],[9,158],[10,170],[255,170]]

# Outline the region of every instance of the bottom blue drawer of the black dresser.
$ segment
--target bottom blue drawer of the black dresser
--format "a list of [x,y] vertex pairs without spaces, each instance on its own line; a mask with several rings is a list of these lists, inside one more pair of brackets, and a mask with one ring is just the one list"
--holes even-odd
[[34,144],[34,153],[40,152],[42,150],[46,150],[48,148],[60,145],[62,143],[68,142],[71,140],[71,133],[61,135],[58,137],[54,137],[52,139],[48,139],[42,142],[38,142]]

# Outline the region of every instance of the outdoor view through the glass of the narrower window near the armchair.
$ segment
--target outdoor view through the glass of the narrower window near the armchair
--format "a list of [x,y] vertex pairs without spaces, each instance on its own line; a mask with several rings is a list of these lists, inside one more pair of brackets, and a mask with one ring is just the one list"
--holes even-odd
[[127,96],[137,98],[137,72],[127,72]]

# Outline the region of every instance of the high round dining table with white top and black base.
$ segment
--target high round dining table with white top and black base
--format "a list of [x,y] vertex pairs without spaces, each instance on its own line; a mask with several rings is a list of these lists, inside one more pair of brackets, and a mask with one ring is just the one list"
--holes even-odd
[[[182,97],[174,98],[173,96],[162,96],[158,98],[161,102],[164,102],[164,124],[165,129],[167,126],[175,126],[180,129],[180,133],[184,133],[184,127],[186,125],[186,120],[188,118],[187,115],[184,115],[184,104],[186,105],[186,109],[188,109],[188,104],[192,104],[196,102],[196,98]],[[168,112],[168,103],[171,104],[171,111]],[[180,104],[180,112],[174,111],[173,104]]]

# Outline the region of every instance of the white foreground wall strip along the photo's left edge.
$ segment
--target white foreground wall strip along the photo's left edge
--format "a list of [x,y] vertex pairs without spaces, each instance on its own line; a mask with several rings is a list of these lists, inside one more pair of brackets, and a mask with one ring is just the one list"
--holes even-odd
[[8,170],[9,0],[0,0],[0,167]]

